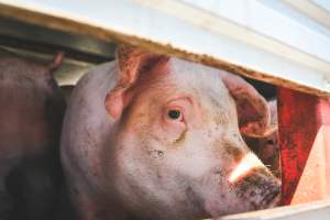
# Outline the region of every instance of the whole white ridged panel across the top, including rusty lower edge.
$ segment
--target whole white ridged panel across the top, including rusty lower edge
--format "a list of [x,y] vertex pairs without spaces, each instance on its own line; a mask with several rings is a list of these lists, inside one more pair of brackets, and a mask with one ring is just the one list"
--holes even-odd
[[[0,13],[329,96],[330,34],[314,25],[302,26],[289,12],[279,13],[277,4],[256,0],[95,0],[92,4],[77,0],[0,0]],[[223,10],[210,13],[213,6]],[[243,8],[249,10],[240,15],[235,10]]]

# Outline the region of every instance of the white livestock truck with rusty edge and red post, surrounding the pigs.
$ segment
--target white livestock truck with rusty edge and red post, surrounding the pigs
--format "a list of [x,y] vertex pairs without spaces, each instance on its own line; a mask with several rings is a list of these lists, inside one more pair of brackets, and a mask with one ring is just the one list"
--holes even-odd
[[0,46],[42,62],[64,52],[62,86],[119,43],[231,72],[277,100],[282,206],[219,219],[330,219],[328,1],[0,0]]

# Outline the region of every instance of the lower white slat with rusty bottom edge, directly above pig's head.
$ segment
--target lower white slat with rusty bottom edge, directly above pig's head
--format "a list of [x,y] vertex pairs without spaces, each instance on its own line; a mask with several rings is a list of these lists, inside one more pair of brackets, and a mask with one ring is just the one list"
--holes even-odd
[[[28,3],[20,4],[20,2]],[[106,4],[106,1],[98,0],[92,4],[94,12],[99,10],[98,13],[90,12],[86,2],[75,4],[75,1],[70,0],[67,3],[75,7],[66,8],[66,3],[62,4],[61,9],[56,8],[57,4],[54,2],[56,1],[1,0],[0,13],[3,16],[73,34],[88,35],[106,42],[139,45],[277,86],[329,96],[328,62],[319,61],[322,64],[320,68],[318,66],[310,68],[307,64],[298,65],[246,42],[205,30],[139,4],[139,1],[138,3],[127,0],[107,1]],[[111,7],[106,10],[106,6],[110,4]]]

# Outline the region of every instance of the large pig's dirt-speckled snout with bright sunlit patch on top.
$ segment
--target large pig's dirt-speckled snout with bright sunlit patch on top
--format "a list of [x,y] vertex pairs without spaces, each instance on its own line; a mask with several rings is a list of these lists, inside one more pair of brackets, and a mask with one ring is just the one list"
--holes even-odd
[[253,209],[275,207],[280,199],[280,184],[253,154],[248,153],[229,176],[239,198]]

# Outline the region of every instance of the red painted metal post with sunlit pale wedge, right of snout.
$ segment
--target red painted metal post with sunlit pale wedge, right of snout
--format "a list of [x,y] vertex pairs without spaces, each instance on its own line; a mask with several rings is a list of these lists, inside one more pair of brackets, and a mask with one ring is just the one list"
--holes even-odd
[[330,197],[330,102],[278,88],[283,205]]

